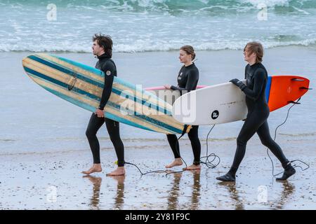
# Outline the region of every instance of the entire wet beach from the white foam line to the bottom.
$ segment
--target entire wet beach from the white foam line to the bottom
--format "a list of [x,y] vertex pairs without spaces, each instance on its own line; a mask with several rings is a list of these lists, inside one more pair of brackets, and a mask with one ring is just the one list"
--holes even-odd
[[[291,109],[280,127],[277,142],[290,160],[300,159],[310,169],[286,183],[272,179],[272,166],[257,136],[249,141],[237,183],[220,184],[216,177],[228,171],[242,122],[217,125],[209,138],[209,153],[220,157],[216,169],[202,165],[201,172],[147,174],[126,165],[125,178],[107,177],[116,156],[105,127],[98,136],[103,172],[84,176],[92,162],[85,137],[90,113],[53,96],[32,82],[22,70],[22,57],[30,52],[0,52],[0,209],[316,209],[315,155],[316,94],[311,90],[301,105]],[[94,66],[86,53],[55,53]],[[198,51],[200,85],[243,78],[240,50]],[[176,83],[178,52],[116,53],[119,77],[144,87]],[[270,74],[296,74],[315,86],[316,50],[284,47],[266,50],[264,64]],[[270,132],[287,116],[287,109],[270,114]],[[206,134],[199,129],[202,156]],[[164,134],[121,125],[126,162],[143,172],[164,169],[173,159]],[[187,164],[192,150],[187,136],[180,140]],[[275,162],[275,173],[282,167]],[[301,164],[298,164],[301,165]],[[174,169],[174,170],[180,170]]]

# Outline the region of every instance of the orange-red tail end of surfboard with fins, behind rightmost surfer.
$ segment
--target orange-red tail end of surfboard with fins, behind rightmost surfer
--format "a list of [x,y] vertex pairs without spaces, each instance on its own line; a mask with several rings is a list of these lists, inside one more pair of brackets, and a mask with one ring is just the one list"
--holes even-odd
[[270,111],[296,101],[308,92],[310,80],[301,76],[269,76],[265,96]]

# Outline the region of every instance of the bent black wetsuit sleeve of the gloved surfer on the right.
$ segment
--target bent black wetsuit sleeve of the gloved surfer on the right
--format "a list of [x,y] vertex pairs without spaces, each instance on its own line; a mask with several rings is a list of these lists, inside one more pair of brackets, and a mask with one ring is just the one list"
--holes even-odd
[[256,100],[262,92],[265,81],[265,71],[263,69],[258,69],[254,73],[254,89],[251,90],[249,87],[244,87],[242,91],[247,97]]

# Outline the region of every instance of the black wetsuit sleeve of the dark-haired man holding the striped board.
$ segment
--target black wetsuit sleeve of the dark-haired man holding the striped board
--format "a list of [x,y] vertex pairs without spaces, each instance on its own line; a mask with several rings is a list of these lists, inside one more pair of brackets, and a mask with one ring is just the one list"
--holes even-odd
[[103,87],[99,109],[103,110],[112,92],[115,66],[113,63],[106,62],[102,66],[101,70],[104,72],[104,87]]

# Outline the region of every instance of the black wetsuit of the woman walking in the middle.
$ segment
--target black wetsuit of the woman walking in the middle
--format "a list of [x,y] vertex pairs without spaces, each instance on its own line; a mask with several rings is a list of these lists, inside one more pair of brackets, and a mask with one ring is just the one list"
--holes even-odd
[[[197,88],[197,81],[199,80],[199,70],[192,63],[189,66],[183,66],[178,73],[178,86],[171,85],[171,90],[179,90],[181,94],[195,90]],[[184,92],[185,91],[185,92]],[[201,144],[198,136],[199,126],[192,126],[192,129],[187,134],[194,154],[194,165],[199,165],[201,155]],[[173,151],[174,158],[180,158],[179,142],[176,134],[167,134],[169,145]]]

